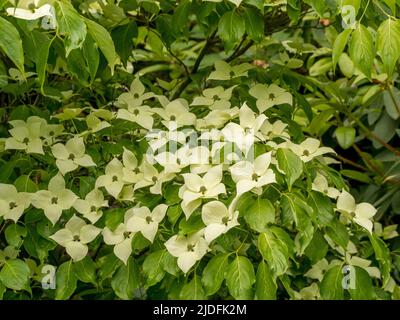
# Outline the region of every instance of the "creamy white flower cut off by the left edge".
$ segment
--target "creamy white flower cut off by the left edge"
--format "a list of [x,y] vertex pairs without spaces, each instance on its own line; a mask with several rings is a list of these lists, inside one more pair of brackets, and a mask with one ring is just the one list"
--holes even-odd
[[30,203],[30,193],[18,192],[14,185],[0,183],[0,217],[17,222]]

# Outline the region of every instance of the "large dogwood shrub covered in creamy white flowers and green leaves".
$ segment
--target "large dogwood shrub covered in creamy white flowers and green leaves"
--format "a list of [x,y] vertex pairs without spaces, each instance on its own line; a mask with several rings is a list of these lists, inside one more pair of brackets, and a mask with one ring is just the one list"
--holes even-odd
[[[24,45],[42,42],[46,52],[24,62],[22,47],[4,47],[0,35],[18,69],[15,83],[7,76],[1,84],[10,105],[0,113],[0,297],[398,297],[384,241],[397,236],[396,225],[382,226],[372,204],[356,201],[334,144],[302,132],[302,119],[317,113],[308,101],[318,98],[303,97],[291,71],[303,61],[281,53],[287,59],[277,65],[287,78],[251,59],[232,62],[245,33],[250,46],[262,46],[264,13],[277,10],[272,16],[288,15],[289,24],[301,20],[305,4],[314,14],[332,8],[316,1],[86,1],[78,12],[74,1],[10,3],[0,1],[0,26],[10,37],[17,27],[33,30]],[[200,31],[185,20],[195,6]],[[112,13],[134,17],[133,24],[119,24]],[[208,14],[220,18],[216,29]],[[177,29],[154,29],[151,15],[163,27],[178,19]],[[138,30],[141,18],[149,29]],[[237,21],[235,30],[226,30],[228,20]],[[201,50],[188,71],[173,50],[185,52],[179,39],[199,33],[204,48],[218,34],[233,55],[200,68]],[[136,39],[133,55],[132,43],[119,43],[123,34]],[[175,61],[172,74],[179,65],[182,73],[152,77],[165,70],[153,63],[132,74],[157,52]],[[32,91],[39,107],[12,101]]]

